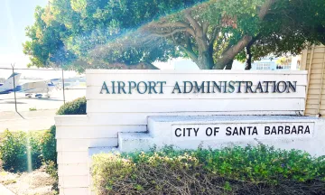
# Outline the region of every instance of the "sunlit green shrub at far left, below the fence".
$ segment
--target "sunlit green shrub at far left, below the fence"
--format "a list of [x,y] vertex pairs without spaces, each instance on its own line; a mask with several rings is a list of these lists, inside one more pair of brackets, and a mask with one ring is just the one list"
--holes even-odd
[[42,165],[41,150],[38,135],[25,132],[9,132],[5,130],[0,144],[0,159],[5,171],[28,171],[28,162],[32,163],[32,170]]

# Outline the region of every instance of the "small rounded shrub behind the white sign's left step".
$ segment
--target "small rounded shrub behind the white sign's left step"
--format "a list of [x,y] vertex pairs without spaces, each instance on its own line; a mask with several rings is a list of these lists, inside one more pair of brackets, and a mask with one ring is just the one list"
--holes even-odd
[[57,115],[86,115],[87,100],[85,97],[67,102],[57,111]]

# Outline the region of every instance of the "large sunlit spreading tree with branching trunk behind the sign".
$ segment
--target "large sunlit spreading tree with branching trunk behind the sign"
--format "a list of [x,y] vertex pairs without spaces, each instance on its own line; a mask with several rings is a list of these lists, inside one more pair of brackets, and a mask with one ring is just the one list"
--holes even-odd
[[24,52],[31,65],[81,71],[120,63],[150,69],[175,57],[231,69],[244,48],[282,31],[267,23],[280,23],[276,16],[292,1],[302,0],[52,0],[37,8]]

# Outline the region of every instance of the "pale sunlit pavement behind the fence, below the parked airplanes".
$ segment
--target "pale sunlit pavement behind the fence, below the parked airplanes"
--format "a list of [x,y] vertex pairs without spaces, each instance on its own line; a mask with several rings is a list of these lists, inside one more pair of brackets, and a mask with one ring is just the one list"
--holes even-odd
[[[42,130],[54,125],[55,112],[63,105],[63,93],[58,90],[51,95],[51,98],[25,98],[17,93],[19,114],[15,112],[14,94],[0,95],[0,132]],[[85,95],[85,89],[65,90],[66,102]]]

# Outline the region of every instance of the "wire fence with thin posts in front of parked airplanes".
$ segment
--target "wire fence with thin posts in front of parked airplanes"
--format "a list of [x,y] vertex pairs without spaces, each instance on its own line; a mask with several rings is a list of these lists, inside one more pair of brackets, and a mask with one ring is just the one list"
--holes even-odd
[[[86,95],[86,79],[76,76],[77,74],[72,71],[19,69],[5,65],[0,66],[1,83],[4,83],[13,72],[22,75],[19,80],[14,80],[14,85],[10,84],[15,88],[11,93],[1,94],[0,91],[0,132],[6,128],[9,130],[48,128],[54,124],[53,116],[60,106]],[[48,84],[51,91],[24,90],[40,89]],[[50,98],[46,97],[47,95]]]

